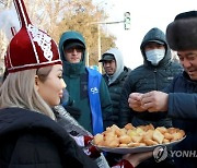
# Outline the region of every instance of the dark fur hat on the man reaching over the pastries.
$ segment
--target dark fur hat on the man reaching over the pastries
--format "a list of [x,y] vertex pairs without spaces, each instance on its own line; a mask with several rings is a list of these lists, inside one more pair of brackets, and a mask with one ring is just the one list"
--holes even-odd
[[166,40],[176,51],[197,49],[197,11],[177,14],[167,25]]

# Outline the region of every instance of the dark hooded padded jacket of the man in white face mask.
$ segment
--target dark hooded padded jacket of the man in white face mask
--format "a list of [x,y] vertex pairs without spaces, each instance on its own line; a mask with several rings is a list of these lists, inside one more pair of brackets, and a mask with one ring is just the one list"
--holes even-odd
[[[158,65],[152,65],[147,60],[144,46],[151,40],[160,40],[164,43],[165,56]],[[141,53],[143,64],[132,70],[123,86],[120,98],[119,125],[124,127],[128,122],[134,125],[152,123],[154,127],[165,125],[172,127],[171,119],[166,118],[166,113],[161,112],[137,112],[128,106],[128,97],[130,93],[147,93],[150,91],[162,91],[165,88],[183,68],[178,62],[171,60],[171,51],[165,40],[165,35],[158,28],[152,28],[147,33],[141,43]]]

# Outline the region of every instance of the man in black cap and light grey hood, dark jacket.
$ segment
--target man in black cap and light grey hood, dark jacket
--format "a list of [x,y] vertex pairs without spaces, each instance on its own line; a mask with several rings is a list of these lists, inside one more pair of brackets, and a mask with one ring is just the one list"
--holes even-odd
[[100,62],[102,62],[105,71],[103,77],[108,86],[113,104],[112,122],[118,124],[120,94],[124,82],[131,70],[124,65],[123,55],[117,48],[111,48],[105,51]]

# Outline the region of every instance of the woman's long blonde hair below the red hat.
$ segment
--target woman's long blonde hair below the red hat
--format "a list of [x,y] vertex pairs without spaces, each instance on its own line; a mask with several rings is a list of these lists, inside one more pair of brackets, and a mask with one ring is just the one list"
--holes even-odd
[[[46,71],[47,70],[47,71]],[[0,108],[19,107],[44,113],[55,119],[51,108],[35,87],[35,75],[45,81],[51,67],[10,73],[0,87]]]

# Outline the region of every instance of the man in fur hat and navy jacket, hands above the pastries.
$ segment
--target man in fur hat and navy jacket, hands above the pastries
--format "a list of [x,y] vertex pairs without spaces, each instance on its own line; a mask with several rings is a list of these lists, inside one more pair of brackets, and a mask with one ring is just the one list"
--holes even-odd
[[[175,77],[164,92],[152,91],[129,96],[129,106],[136,111],[162,111],[173,119],[173,125],[183,129],[186,137],[173,147],[176,167],[197,166],[197,11],[183,12],[167,25],[166,39],[177,51],[184,72]],[[187,153],[187,156],[184,154]]]

